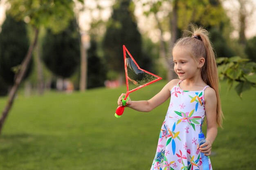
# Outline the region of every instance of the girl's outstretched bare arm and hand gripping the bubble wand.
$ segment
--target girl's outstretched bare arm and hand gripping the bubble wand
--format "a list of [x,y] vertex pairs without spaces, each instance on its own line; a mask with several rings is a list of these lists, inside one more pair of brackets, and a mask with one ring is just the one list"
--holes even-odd
[[[159,106],[160,104],[164,103],[171,96],[171,88],[173,88],[173,86],[177,83],[178,80],[173,79],[168,84],[166,84],[164,88],[162,88],[162,90],[151,99],[141,101],[128,101],[126,103],[126,106],[140,112],[149,112],[157,106]],[[117,103],[119,106],[122,106],[121,97],[124,95],[125,94],[123,93],[118,99]]]

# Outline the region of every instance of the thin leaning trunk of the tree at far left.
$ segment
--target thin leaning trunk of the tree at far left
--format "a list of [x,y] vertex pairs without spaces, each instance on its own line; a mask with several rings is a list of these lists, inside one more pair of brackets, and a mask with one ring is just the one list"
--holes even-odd
[[11,106],[13,104],[13,99],[16,95],[16,92],[18,90],[20,82],[21,82],[22,78],[24,77],[25,72],[27,70],[27,65],[29,64],[29,61],[31,60],[33,49],[37,43],[37,38],[38,38],[38,29],[34,28],[34,40],[33,40],[33,42],[31,42],[29,49],[27,51],[27,55],[25,56],[24,60],[22,61],[20,71],[17,73],[17,76],[15,77],[14,84],[13,84],[11,91],[9,93],[9,96],[8,96],[7,104],[2,112],[2,117],[0,119],[0,134],[2,132],[2,127],[4,125],[4,121],[7,118],[9,110],[11,109]]

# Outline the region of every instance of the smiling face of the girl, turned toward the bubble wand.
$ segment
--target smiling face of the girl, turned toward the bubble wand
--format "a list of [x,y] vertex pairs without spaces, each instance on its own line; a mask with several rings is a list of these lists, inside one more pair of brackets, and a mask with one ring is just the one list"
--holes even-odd
[[173,49],[174,71],[181,80],[191,79],[200,73],[198,63],[190,53],[180,46]]

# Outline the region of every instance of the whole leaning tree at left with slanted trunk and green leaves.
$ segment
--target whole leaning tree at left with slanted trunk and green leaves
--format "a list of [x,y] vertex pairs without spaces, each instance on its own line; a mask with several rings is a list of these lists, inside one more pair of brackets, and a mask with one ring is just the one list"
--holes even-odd
[[[79,0],[82,2],[82,0]],[[42,0],[7,0],[11,4],[11,9],[8,11],[17,20],[24,20],[32,26],[34,30],[34,38],[29,45],[24,60],[20,66],[20,70],[16,75],[14,84],[9,93],[7,104],[2,112],[0,118],[0,133],[2,126],[12,107],[13,99],[18,90],[21,80],[23,79],[27,66],[31,60],[32,52],[36,46],[38,39],[38,32],[40,26],[52,29],[54,32],[62,31],[68,25],[73,16],[72,0],[55,0],[52,3]],[[65,14],[65,15],[64,15]]]

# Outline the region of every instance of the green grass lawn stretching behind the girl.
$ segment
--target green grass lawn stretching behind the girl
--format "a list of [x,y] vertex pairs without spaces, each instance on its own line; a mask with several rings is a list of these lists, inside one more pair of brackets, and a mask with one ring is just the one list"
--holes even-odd
[[[153,97],[163,80],[132,93]],[[256,167],[256,90],[227,91],[221,83],[223,129],[213,143],[214,170]],[[19,95],[0,136],[0,170],[149,170],[168,101],[150,113],[129,108],[117,119],[117,98],[126,88],[85,93]],[[0,98],[0,110],[6,98]]]

